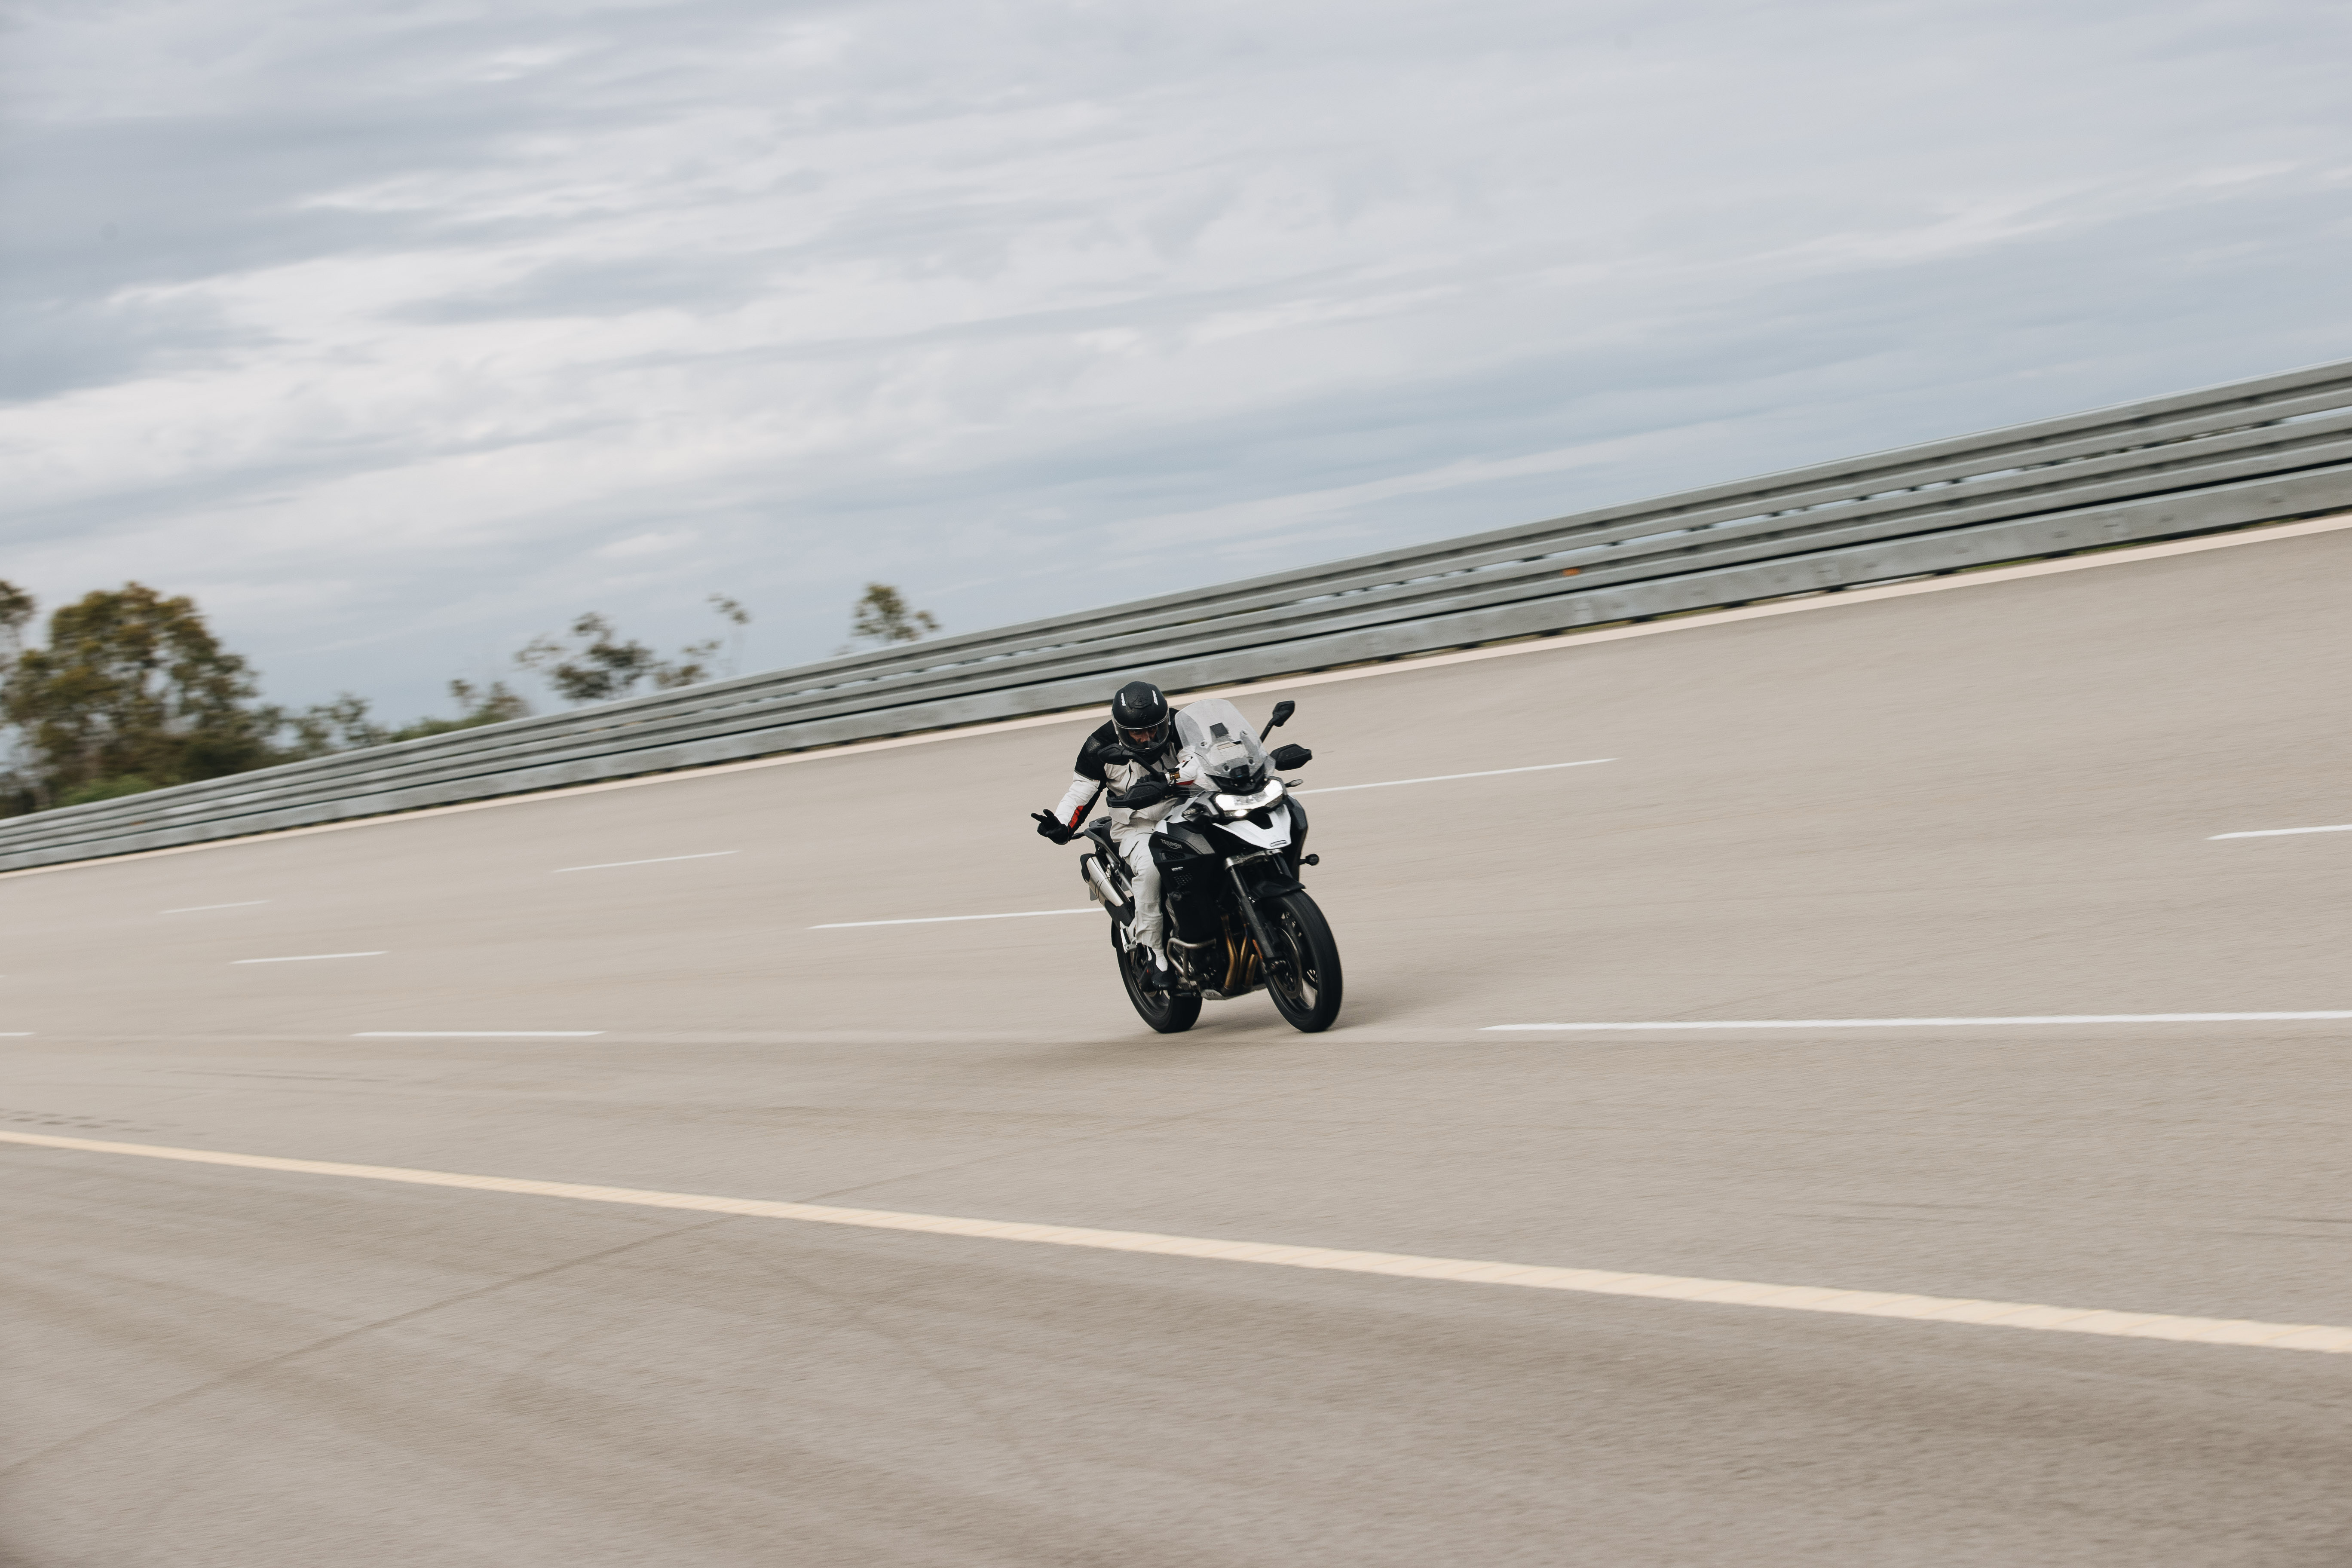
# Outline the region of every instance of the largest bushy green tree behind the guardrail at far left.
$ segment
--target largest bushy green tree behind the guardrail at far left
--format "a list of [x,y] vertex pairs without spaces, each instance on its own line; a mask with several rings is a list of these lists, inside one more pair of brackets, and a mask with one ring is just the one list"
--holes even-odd
[[275,762],[278,715],[256,710],[252,668],[221,646],[195,599],[143,583],[101,590],[49,616],[49,644],[24,649],[33,599],[0,592],[14,644],[0,708],[21,738],[24,804],[78,804],[219,778]]

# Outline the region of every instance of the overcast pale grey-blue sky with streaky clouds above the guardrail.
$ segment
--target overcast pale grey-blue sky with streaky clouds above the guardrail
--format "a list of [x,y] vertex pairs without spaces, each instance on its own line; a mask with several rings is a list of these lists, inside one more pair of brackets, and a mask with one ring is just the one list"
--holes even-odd
[[395,717],[2352,355],[2340,0],[9,0],[0,576]]

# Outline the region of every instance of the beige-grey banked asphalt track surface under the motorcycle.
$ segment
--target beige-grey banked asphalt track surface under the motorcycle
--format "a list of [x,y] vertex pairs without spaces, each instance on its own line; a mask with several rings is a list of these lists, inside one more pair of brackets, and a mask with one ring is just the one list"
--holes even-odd
[[[1322,1037],[1030,914],[1084,722],[7,877],[0,1133],[2352,1326],[2347,581],[1301,686]],[[2352,1354],[0,1171],[16,1568],[2352,1563]]]

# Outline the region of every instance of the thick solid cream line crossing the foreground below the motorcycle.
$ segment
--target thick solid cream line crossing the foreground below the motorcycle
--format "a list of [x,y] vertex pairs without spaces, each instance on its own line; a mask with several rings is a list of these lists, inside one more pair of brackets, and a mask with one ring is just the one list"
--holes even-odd
[[2039,1328],[2046,1333],[2100,1333],[2126,1340],[2180,1340],[2190,1345],[2260,1345],[2267,1349],[2352,1352],[2352,1328],[2326,1324],[2263,1324],[2253,1319],[2173,1316],[2159,1312],[2105,1312],[2093,1307],[2044,1307],[2034,1302],[1992,1302],[1950,1295],[1907,1295],[1898,1291],[1844,1291],[1835,1286],[1773,1286],[1752,1279],[1693,1279],[1684,1274],[1618,1274],[1611,1269],[1557,1269],[1524,1262],[1479,1262],[1475,1258],[1423,1258],[1414,1253],[1355,1253],[1329,1246],[1282,1246],[1265,1241],[1221,1241],[1214,1237],[1164,1237],[1138,1229],[1082,1229],[1077,1225],[1023,1225],[1016,1220],[969,1220],[943,1213],[898,1213],[889,1208],[835,1208],[830,1204],[779,1204],[769,1199],[727,1199],[701,1192],[654,1192],[647,1187],[588,1187],[579,1182],[534,1182],[510,1175],[461,1175],[454,1171],[412,1171],[405,1166],[348,1166],[325,1159],[275,1159],[268,1154],[223,1154],[216,1150],[174,1150],[151,1143],[103,1143],[99,1138],[52,1138],[47,1133],[0,1133],[0,1143],[40,1150],[80,1150],[87,1154],[136,1154],[143,1159],[181,1159],[200,1166],[240,1166],[247,1171],[292,1171],[296,1175],[343,1175],[414,1187],[463,1187],[473,1192],[513,1192],[524,1197],[576,1199],[583,1204],[628,1204],[635,1208],[684,1208],[691,1213],[734,1213],[762,1220],[802,1220],[809,1225],[851,1225],[858,1229],[901,1229],[931,1237],[974,1237],[985,1241],[1037,1241],[1101,1253],[1155,1253],[1162,1258],[1209,1258],[1216,1262],[1261,1262],[1284,1269],[1324,1269],[1334,1274],[1390,1274],[1402,1279],[1444,1279],[1456,1284],[1522,1286],[1531,1291],[1576,1291],[1583,1295],[1635,1295],[1649,1300],[1686,1300],[1719,1307],[1778,1307],[1785,1312],[1837,1312],[1846,1316],[1891,1316],[1938,1324],[1973,1324],[1983,1328]]

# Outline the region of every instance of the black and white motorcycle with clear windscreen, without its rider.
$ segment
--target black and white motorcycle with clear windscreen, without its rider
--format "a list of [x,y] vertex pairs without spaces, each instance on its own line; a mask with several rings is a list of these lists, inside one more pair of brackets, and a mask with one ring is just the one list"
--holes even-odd
[[[1275,703],[1272,733],[1298,703]],[[1152,827],[1152,865],[1167,914],[1174,983],[1129,936],[1134,875],[1110,823],[1084,830],[1091,851],[1077,870],[1094,903],[1110,912],[1110,947],[1136,1013],[1162,1034],[1190,1030],[1202,1001],[1263,990],[1294,1030],[1315,1034],[1338,1018],[1338,943],[1298,882],[1317,856],[1303,853],[1308,813],[1296,780],[1275,771],[1315,759],[1303,745],[1268,755],[1242,710],[1204,698],[1176,712],[1183,802]]]

